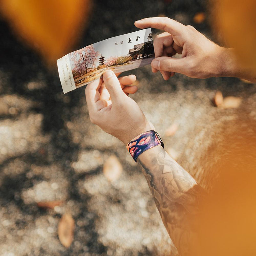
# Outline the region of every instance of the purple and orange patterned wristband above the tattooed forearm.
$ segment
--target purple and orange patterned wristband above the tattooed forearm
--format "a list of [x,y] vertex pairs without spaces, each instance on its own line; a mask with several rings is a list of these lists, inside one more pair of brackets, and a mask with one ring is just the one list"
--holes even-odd
[[161,145],[164,148],[164,143],[157,132],[151,130],[143,132],[135,137],[127,144],[126,148],[131,154],[133,160],[137,162],[136,159],[141,153],[158,145]]

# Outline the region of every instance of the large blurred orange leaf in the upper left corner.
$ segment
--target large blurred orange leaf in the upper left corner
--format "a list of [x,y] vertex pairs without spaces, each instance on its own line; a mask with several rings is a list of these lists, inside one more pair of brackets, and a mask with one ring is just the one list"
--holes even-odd
[[15,34],[54,64],[81,35],[91,7],[90,0],[0,0],[0,4]]

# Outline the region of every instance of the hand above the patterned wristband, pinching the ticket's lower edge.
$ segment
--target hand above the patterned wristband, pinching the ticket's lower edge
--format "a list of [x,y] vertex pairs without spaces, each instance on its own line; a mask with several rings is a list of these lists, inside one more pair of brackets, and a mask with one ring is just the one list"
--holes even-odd
[[137,86],[128,86],[135,80],[134,75],[118,79],[111,70],[106,70],[103,79],[88,84],[85,89],[92,123],[124,144],[140,133],[154,129],[138,104],[127,96],[137,91]]

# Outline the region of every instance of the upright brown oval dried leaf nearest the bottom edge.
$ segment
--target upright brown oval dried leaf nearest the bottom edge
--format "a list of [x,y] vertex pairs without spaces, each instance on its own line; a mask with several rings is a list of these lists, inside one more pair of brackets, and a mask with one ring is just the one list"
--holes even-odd
[[74,238],[75,220],[68,213],[62,215],[58,225],[58,236],[60,243],[68,248]]

